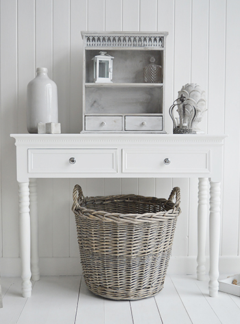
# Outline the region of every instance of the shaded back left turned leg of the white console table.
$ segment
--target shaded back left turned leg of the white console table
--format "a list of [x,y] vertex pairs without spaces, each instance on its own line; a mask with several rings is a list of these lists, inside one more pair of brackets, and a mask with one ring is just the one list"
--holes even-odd
[[29,182],[30,196],[30,219],[31,219],[31,269],[32,280],[40,279],[39,257],[38,257],[38,200],[36,179],[32,178]]

